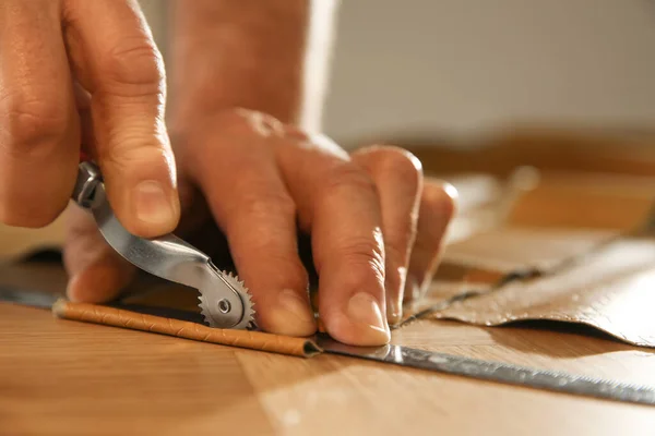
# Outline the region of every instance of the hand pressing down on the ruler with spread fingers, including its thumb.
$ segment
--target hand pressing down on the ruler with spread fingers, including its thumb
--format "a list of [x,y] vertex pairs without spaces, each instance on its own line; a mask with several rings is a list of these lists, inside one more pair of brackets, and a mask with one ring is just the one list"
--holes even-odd
[[[404,296],[430,281],[453,189],[424,183],[420,162],[400,148],[349,155],[259,112],[223,111],[178,133],[178,234],[213,257],[225,235],[264,330],[306,336],[317,329],[300,230],[311,237],[327,332],[353,344],[389,341]],[[75,216],[68,242],[69,296],[115,298],[132,269],[88,216]]]

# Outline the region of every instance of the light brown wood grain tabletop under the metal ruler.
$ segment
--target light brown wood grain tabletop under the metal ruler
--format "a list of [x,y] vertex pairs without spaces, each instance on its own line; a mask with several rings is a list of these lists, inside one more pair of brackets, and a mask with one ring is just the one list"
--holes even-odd
[[[654,352],[587,331],[421,320],[393,342],[655,385]],[[655,408],[0,304],[2,435],[652,435],[653,425]]]

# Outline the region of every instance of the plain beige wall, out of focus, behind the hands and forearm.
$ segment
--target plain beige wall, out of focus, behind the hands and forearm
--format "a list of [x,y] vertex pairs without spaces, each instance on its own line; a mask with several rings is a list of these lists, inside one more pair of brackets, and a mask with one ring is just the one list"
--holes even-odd
[[[165,0],[142,0],[155,35]],[[323,0],[317,0],[323,1]],[[655,122],[653,0],[342,0],[325,129]]]

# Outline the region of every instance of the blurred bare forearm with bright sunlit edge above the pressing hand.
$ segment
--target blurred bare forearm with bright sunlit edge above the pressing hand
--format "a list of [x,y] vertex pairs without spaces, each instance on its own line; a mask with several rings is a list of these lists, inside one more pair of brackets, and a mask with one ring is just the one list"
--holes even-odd
[[[174,123],[237,106],[317,129],[334,4],[333,0],[172,1]],[[321,8],[313,17],[312,8]]]

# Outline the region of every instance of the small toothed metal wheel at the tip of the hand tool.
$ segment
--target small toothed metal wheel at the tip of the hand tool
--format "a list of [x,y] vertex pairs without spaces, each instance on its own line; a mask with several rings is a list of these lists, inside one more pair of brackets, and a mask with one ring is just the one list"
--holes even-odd
[[[237,293],[239,300],[242,303],[243,313],[240,317],[240,320],[229,328],[231,329],[253,329],[255,328],[254,323],[254,303],[252,302],[250,292],[248,288],[246,288],[242,280],[231,272],[225,272],[222,270],[216,270],[222,276],[222,279]],[[211,327],[222,327],[219,320],[217,320],[213,314],[216,316],[221,316],[222,313],[227,313],[233,307],[226,299],[219,299],[212,295],[212,292],[202,292],[198,298],[200,303],[198,306],[200,307],[200,313],[204,317],[205,322]]]

